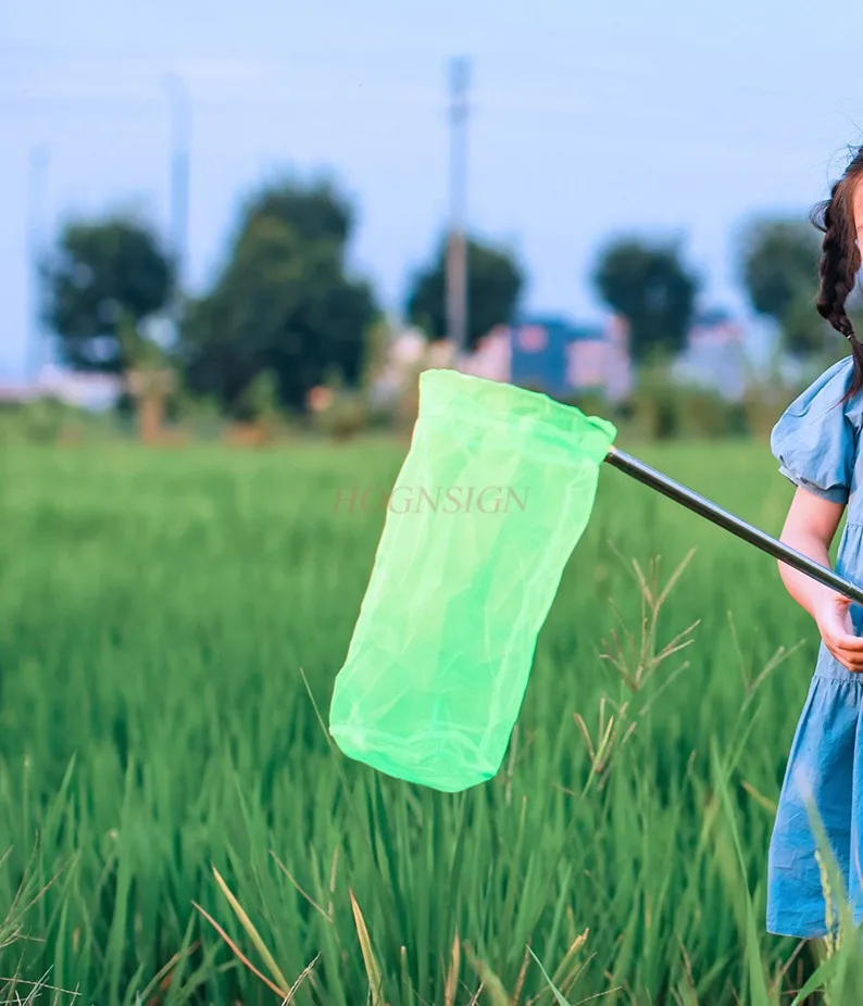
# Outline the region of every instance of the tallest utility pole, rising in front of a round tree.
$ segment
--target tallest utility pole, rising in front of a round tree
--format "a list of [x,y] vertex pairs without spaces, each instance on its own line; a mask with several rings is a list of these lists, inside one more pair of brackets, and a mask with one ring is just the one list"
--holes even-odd
[[447,242],[447,327],[456,355],[467,342],[467,89],[471,63],[450,63],[450,226]]

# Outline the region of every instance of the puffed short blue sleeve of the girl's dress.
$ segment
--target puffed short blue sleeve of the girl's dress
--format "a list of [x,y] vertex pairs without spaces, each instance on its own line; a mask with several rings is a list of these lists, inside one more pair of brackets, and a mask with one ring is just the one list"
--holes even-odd
[[788,406],[771,437],[781,474],[834,503],[848,502],[856,456],[860,405],[842,401],[851,374],[850,357],[822,374]]

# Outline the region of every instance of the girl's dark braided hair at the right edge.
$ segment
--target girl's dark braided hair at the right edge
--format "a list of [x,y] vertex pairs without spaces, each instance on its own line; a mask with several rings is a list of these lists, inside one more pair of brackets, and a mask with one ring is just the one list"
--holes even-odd
[[854,288],[861,257],[854,229],[854,188],[863,179],[863,147],[858,148],[842,177],[830,190],[830,198],[812,211],[812,223],[824,234],[818,274],[821,286],[815,301],[818,314],[841,332],[851,344],[854,374],[847,398],[863,389],[863,345],[845,305]]

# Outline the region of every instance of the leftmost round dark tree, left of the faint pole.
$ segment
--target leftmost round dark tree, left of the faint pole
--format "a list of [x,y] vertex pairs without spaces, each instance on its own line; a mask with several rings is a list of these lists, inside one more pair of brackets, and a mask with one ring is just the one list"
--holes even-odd
[[42,276],[46,317],[64,362],[111,374],[130,363],[129,326],[137,330],[159,313],[173,285],[171,261],[154,231],[122,216],[66,224]]

